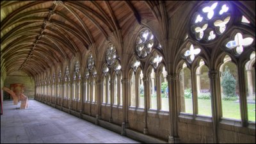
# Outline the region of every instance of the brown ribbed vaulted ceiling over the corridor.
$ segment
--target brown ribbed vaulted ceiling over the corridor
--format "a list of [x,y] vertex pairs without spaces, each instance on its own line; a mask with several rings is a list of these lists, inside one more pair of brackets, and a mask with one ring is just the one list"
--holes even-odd
[[[1,72],[31,76],[77,53],[101,51],[113,32],[124,38],[141,20],[159,19],[161,1],[1,1]],[[166,1],[168,13],[184,1]],[[171,15],[170,14],[170,15]]]

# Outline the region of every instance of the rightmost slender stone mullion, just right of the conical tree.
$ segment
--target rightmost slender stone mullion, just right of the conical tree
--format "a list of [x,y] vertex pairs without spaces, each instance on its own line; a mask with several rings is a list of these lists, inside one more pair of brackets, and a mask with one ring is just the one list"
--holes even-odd
[[[247,109],[247,99],[246,99],[246,82],[244,77],[244,68],[238,68],[238,84],[239,84],[239,104],[241,111],[241,120],[243,127],[248,125],[248,109]],[[249,86],[248,86],[249,87]]]

